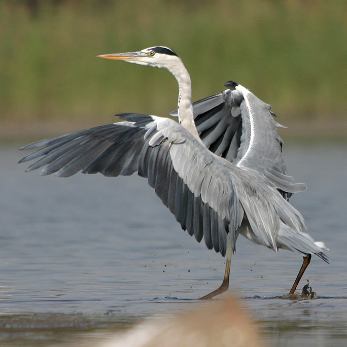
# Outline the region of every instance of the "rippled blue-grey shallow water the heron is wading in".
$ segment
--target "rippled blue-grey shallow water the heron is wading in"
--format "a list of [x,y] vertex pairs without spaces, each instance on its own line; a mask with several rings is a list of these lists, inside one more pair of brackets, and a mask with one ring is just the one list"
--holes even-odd
[[[285,150],[289,173],[309,187],[291,201],[330,248],[331,264],[313,257],[299,285],[308,279],[318,299],[275,298],[291,288],[301,257],[237,240],[230,287],[272,345],[347,343],[346,153]],[[220,285],[224,258],[181,230],[144,179],[38,177],[17,164],[24,154],[0,149],[0,346],[118,331]]]

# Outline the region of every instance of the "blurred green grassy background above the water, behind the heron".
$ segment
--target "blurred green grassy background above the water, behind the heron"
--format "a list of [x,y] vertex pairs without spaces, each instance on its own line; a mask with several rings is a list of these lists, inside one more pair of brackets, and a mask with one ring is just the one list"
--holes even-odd
[[[28,6],[28,4],[35,6]],[[183,59],[193,98],[236,81],[279,121],[345,124],[347,3],[335,1],[0,0],[3,124],[167,115],[168,72],[95,56],[164,45]]]

